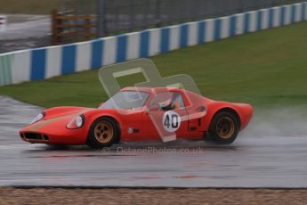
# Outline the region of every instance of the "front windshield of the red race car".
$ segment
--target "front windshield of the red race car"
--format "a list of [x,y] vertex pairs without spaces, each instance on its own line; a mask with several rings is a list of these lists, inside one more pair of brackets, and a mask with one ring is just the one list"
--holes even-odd
[[138,91],[121,91],[104,102],[99,109],[138,110],[146,102],[149,94]]

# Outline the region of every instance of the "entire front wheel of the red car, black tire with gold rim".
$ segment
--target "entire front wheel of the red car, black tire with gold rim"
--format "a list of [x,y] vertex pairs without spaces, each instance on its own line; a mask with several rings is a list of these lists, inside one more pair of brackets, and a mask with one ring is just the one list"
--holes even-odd
[[90,127],[87,144],[94,149],[109,147],[118,142],[119,135],[117,122],[114,119],[102,117],[96,119]]

